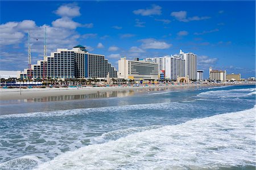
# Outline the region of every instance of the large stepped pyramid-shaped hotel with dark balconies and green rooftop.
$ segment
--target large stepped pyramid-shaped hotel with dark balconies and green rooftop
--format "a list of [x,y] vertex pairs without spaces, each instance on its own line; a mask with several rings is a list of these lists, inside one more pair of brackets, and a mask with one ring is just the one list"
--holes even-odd
[[84,46],[77,45],[73,49],[57,49],[51,56],[39,60],[30,69],[18,73],[18,78],[117,78],[117,70],[101,54],[89,53]]

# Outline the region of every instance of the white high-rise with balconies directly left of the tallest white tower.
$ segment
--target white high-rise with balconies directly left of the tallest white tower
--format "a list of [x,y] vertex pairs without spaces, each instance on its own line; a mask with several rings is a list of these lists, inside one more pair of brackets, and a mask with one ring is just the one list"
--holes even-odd
[[176,80],[177,76],[185,76],[185,59],[180,56],[166,58],[166,78]]

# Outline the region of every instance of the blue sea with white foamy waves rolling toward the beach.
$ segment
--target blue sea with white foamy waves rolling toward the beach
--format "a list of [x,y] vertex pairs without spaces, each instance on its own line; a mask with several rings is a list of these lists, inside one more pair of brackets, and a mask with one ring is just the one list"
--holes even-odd
[[255,169],[255,93],[197,88],[1,113],[0,169]]

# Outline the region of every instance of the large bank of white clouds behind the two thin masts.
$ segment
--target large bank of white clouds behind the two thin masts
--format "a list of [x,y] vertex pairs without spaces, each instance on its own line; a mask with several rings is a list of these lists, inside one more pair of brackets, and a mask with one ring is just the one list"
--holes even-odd
[[[55,52],[57,48],[71,49],[78,44],[81,37],[75,31],[77,27],[93,27],[92,23],[80,24],[72,20],[73,17],[79,16],[79,7],[76,5],[63,5],[55,13],[61,18],[52,22],[52,25],[36,25],[34,20],[23,20],[21,22],[7,22],[0,25],[0,53],[2,65],[5,65],[7,54],[17,52],[19,46],[24,48],[24,55],[19,56],[19,63],[15,63],[15,69],[23,69],[27,62],[27,31],[30,30],[32,63],[42,59],[44,45],[44,29],[47,28],[47,54]],[[84,35],[84,37],[93,37],[94,35]],[[10,48],[13,45],[13,48]],[[23,47],[22,47],[23,46]],[[89,47],[90,48],[90,47]],[[88,48],[88,49],[89,49]],[[90,48],[93,50],[93,48]],[[19,50],[20,51],[20,50]],[[2,52],[6,52],[3,56]],[[9,57],[10,58],[10,57]],[[20,62],[20,61],[24,61]],[[7,68],[8,69],[8,68]]]

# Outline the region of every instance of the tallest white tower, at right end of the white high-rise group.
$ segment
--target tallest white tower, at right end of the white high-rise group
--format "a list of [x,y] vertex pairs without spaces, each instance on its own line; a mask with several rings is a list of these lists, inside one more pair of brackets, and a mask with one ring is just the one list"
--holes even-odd
[[194,53],[184,53],[180,50],[180,57],[185,59],[185,76],[189,79],[196,80],[197,78],[197,55]]

